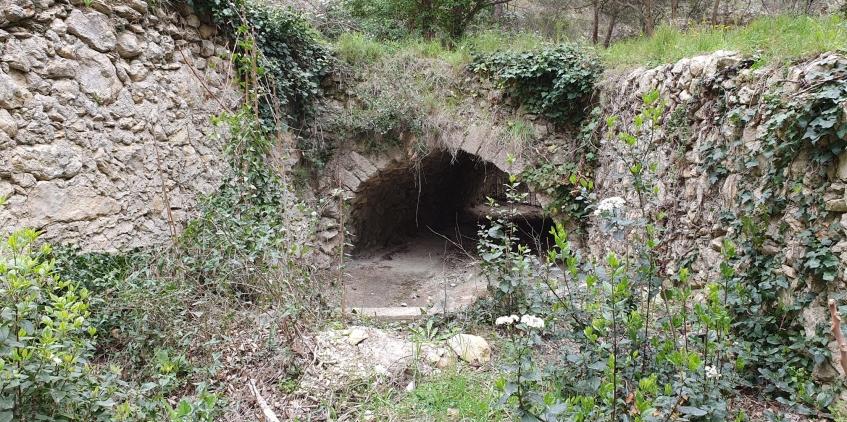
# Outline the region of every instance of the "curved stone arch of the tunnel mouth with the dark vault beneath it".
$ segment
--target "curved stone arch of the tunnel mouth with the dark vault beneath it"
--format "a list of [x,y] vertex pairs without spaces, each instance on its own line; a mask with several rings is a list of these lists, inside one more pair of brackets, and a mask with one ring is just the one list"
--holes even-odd
[[[462,221],[469,217],[462,211],[486,196],[502,196],[508,175],[525,167],[521,154],[503,145],[491,126],[474,123],[442,133],[422,155],[414,152],[415,142],[410,139],[405,148],[379,154],[339,151],[321,189],[339,190],[347,205],[330,213],[329,227],[321,235],[324,251],[342,243],[353,251],[380,247],[424,230],[449,229],[455,235],[456,226],[468,223]],[[544,198],[533,194],[530,199],[536,209],[527,218],[539,218]],[[342,237],[343,231],[350,236]]]

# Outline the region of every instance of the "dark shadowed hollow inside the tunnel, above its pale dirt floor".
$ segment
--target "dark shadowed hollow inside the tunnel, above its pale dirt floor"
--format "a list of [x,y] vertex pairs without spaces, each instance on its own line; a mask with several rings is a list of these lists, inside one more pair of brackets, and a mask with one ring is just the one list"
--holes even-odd
[[351,204],[354,256],[433,235],[473,246],[486,198],[505,202],[507,182],[505,172],[464,151],[387,168]]

